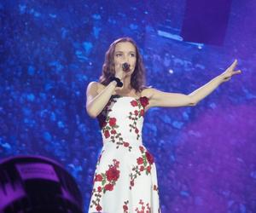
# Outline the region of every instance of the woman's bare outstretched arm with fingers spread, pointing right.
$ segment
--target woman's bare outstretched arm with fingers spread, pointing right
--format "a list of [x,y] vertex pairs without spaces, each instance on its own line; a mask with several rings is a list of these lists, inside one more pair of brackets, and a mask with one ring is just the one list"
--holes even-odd
[[[235,60],[225,72],[213,78],[210,82],[196,89],[189,95],[179,93],[167,93],[157,89],[148,89],[149,105],[148,107],[186,107],[195,106],[199,101],[211,94],[214,89],[218,87],[220,83],[230,80],[230,78],[241,73],[241,70],[234,71],[237,65]],[[147,94],[147,92],[145,92]]]

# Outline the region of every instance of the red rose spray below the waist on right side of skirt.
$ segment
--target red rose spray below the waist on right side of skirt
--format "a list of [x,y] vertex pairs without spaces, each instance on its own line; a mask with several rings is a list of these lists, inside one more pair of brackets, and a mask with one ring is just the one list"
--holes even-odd
[[134,187],[134,181],[137,176],[141,176],[143,172],[148,176],[151,172],[151,166],[154,164],[154,157],[148,153],[144,147],[140,146],[139,148],[142,155],[137,158],[137,165],[132,168],[132,172],[130,174],[130,189]]

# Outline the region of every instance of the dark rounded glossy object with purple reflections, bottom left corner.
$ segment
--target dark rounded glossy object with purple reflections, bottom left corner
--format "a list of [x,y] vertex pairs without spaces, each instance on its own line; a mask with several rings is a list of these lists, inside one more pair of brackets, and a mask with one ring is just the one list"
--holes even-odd
[[61,164],[41,156],[0,162],[0,212],[83,212],[79,188]]

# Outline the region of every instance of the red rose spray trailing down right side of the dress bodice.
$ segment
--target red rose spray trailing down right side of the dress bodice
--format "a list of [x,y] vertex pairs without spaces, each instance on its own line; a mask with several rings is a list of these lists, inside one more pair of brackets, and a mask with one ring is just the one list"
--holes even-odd
[[132,107],[138,107],[138,110],[129,112],[129,119],[131,119],[131,124],[129,124],[130,132],[134,130],[137,134],[137,140],[140,137],[139,130],[137,129],[137,119],[144,116],[144,109],[148,105],[148,98],[146,96],[140,97],[130,102]]

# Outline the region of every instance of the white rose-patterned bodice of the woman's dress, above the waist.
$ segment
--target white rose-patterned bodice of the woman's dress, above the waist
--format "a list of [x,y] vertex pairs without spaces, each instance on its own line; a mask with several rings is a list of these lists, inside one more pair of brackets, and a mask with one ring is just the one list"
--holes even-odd
[[108,141],[117,146],[142,144],[143,117],[148,105],[146,96],[113,95],[99,114],[103,144]]

